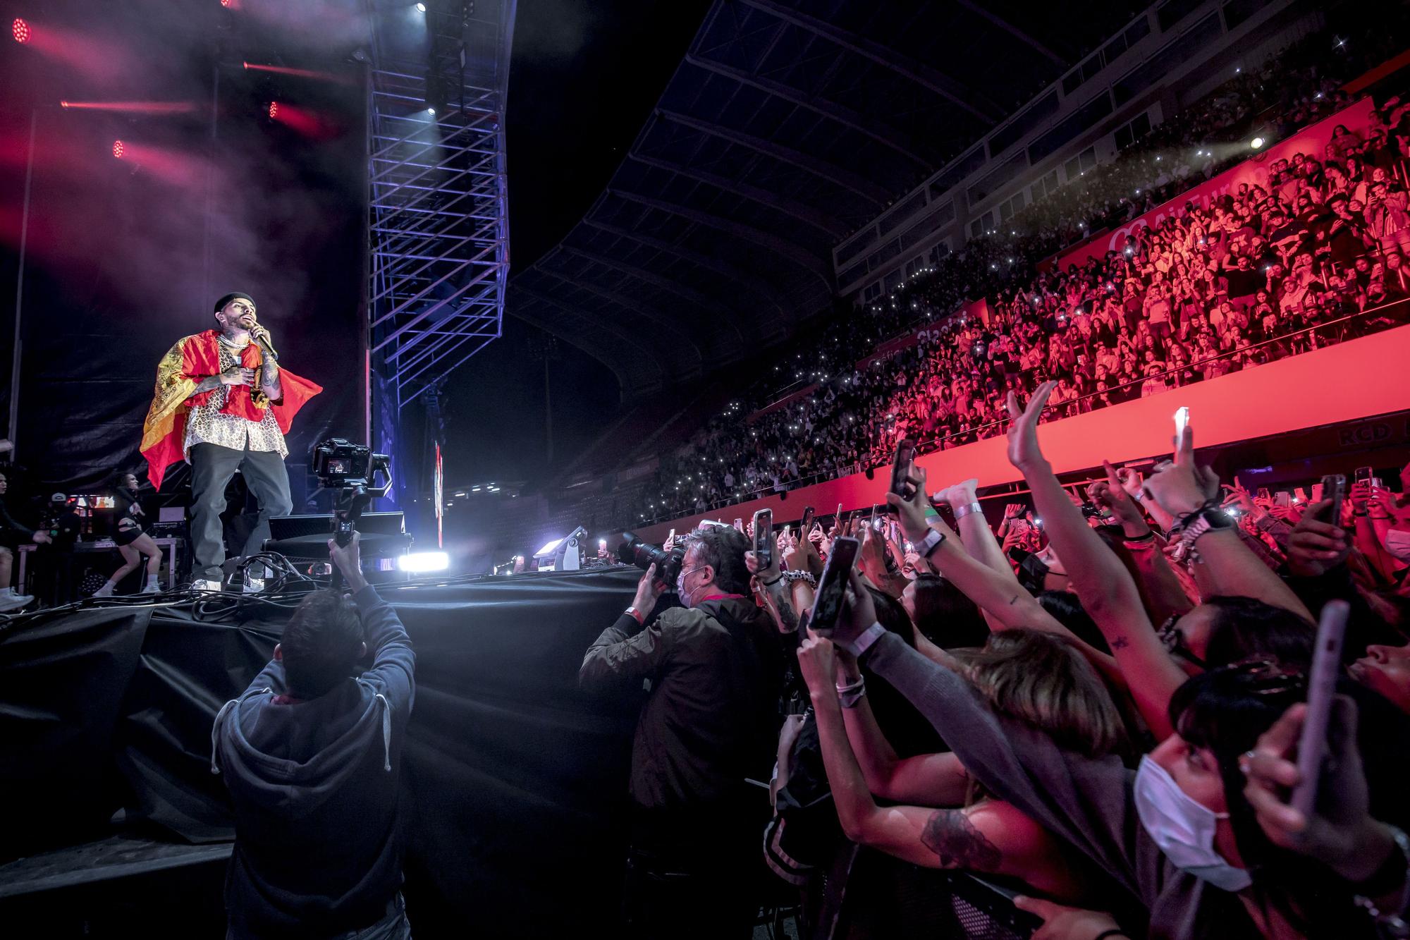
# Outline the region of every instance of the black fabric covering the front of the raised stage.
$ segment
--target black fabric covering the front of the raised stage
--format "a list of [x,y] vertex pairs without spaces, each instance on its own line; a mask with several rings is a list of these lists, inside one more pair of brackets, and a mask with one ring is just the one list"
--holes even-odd
[[[609,567],[378,589],[416,648],[402,785],[417,937],[577,936],[615,922],[639,703],[585,694],[577,677],[639,574]],[[0,862],[102,840],[118,812],[127,831],[212,847],[233,838],[224,783],[210,772],[210,727],[268,662],[288,614],[250,610],[221,622],[189,608],[114,605],[21,618],[0,632],[0,802],[23,807],[0,827]],[[931,923],[1026,936],[1003,893],[956,886],[946,872],[919,876],[932,888],[909,903],[935,912]],[[144,889],[159,892],[159,881]],[[853,885],[847,917],[866,913],[852,908],[866,895]],[[946,930],[931,936],[956,936]]]

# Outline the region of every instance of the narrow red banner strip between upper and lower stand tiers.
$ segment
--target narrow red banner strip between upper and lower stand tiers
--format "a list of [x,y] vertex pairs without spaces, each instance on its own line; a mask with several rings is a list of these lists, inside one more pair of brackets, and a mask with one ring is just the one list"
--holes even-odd
[[1080,267],[1086,264],[1089,258],[1103,258],[1107,251],[1120,251],[1121,246],[1125,244],[1128,234],[1139,227],[1160,224],[1167,216],[1179,217],[1184,215],[1184,203],[1187,202],[1193,202],[1200,207],[1207,207],[1213,200],[1237,191],[1239,183],[1245,182],[1249,186],[1266,188],[1268,168],[1275,161],[1292,159],[1293,154],[1307,154],[1308,157],[1323,159],[1323,154],[1327,151],[1327,141],[1331,140],[1332,128],[1337,127],[1337,124],[1345,124],[1349,130],[1365,135],[1366,128],[1371,126],[1371,99],[1361,99],[1351,107],[1342,109],[1331,117],[1317,121],[1311,127],[1269,147],[1251,159],[1245,159],[1238,167],[1225,169],[1208,182],[1200,183],[1193,189],[1187,189],[1175,199],[1156,206],[1144,216],[1136,216],[1131,222],[1117,226],[1115,229],[1103,233],[1100,237],[1060,255],[1058,258],[1058,268],[1060,271],[1066,271],[1069,264]]

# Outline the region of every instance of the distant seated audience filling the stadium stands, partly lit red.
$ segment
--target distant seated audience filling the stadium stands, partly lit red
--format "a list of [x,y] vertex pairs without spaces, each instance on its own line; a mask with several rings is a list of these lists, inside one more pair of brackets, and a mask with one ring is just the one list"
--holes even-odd
[[[1273,164],[1266,186],[1187,203],[1081,267],[1036,264],[1244,159],[1214,157],[1230,150],[1206,143],[1221,133],[1242,133],[1252,117],[1293,133],[1345,107],[1340,83],[1383,58],[1383,44],[1368,37],[1355,59],[1335,45],[1328,56],[1325,45],[1318,34],[1235,75],[1084,174],[1090,182],[1005,222],[1012,234],[976,239],[883,302],[829,316],[778,366],[814,387],[739,421],[767,401],[767,390],[746,395],[661,456],[633,521],[880,466],[900,436],[925,452],[1003,433],[1003,395],[1048,378],[1059,382],[1049,418],[1066,416],[1404,322],[1410,305],[1394,302],[1410,295],[1410,106],[1397,97],[1379,103],[1369,134],[1338,128],[1325,152]],[[946,316],[974,296],[988,298],[986,322]],[[915,332],[914,346],[860,364],[901,327]]]

